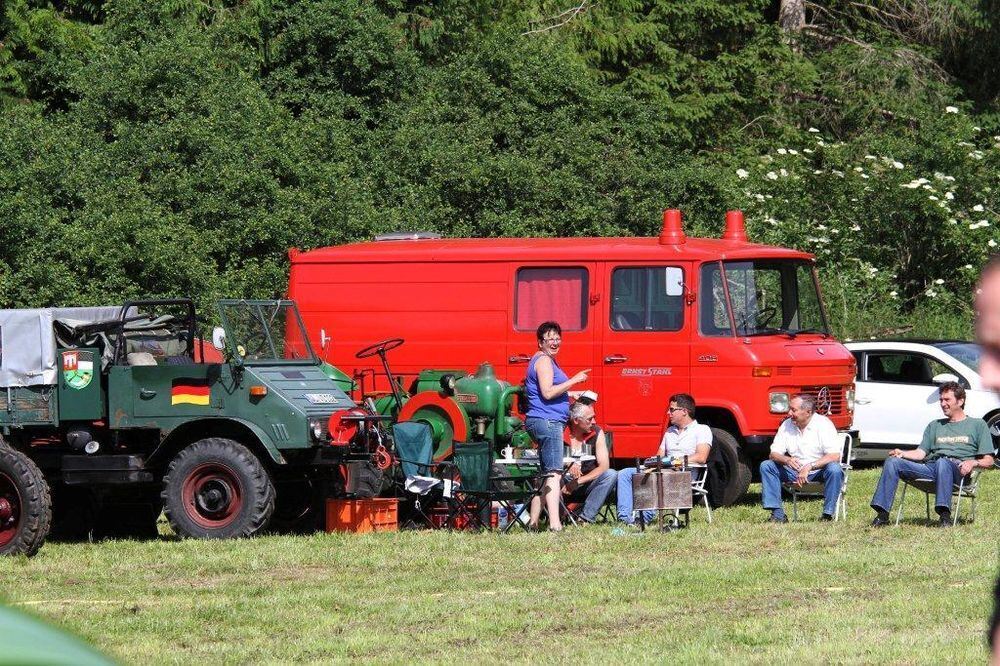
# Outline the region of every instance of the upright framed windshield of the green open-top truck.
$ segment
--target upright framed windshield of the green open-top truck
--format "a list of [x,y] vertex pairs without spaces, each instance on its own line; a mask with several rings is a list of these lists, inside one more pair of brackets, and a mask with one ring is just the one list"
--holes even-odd
[[224,302],[220,308],[227,344],[244,362],[315,360],[291,301]]

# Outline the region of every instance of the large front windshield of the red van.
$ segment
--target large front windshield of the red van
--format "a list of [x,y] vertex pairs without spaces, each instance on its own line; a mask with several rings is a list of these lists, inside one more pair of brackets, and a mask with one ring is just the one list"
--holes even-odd
[[829,335],[819,283],[812,264],[802,260],[705,264],[701,269],[700,320],[703,335],[732,335],[734,328],[741,337]]

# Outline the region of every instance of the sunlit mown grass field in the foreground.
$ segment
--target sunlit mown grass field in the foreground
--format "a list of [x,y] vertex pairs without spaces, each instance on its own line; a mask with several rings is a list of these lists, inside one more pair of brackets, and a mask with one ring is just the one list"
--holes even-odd
[[951,530],[916,494],[867,527],[877,475],[846,524],[764,524],[753,495],[675,533],[50,543],[0,594],[124,662],[983,663],[1000,473]]

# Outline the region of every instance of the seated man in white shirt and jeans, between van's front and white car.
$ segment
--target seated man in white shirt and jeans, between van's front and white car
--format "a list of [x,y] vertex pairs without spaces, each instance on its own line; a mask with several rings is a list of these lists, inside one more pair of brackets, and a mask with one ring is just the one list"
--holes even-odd
[[788,418],[778,428],[771,444],[770,459],[760,464],[760,483],[764,508],[771,512],[771,522],[787,523],[781,504],[782,482],[801,486],[823,482],[823,515],[833,520],[837,498],[844,485],[840,466],[843,441],[830,419],[816,413],[810,395],[796,395],[788,403]]

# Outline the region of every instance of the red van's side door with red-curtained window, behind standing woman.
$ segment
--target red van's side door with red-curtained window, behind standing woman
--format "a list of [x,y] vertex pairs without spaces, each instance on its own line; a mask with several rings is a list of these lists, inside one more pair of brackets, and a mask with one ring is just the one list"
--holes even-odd
[[[507,331],[505,379],[519,383],[538,351],[535,331],[544,321],[562,327],[556,362],[567,376],[594,366],[596,295],[594,264],[517,264],[512,267],[511,322]],[[574,390],[596,390],[591,379]]]

